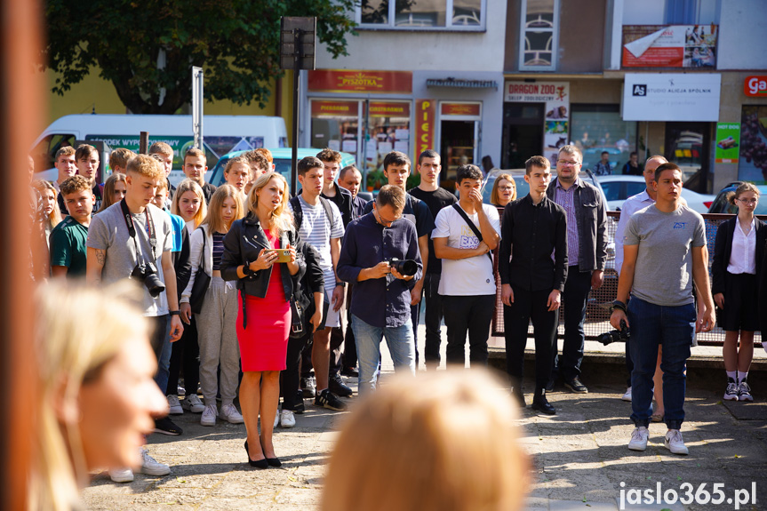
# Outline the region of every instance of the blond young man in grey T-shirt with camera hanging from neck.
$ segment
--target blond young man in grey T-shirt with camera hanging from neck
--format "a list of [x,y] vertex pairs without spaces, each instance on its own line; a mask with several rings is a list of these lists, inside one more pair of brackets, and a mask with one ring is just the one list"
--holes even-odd
[[[151,344],[158,363],[164,343],[180,339],[184,331],[173,269],[171,218],[151,204],[164,179],[163,168],[151,156],[138,155],[128,162],[124,199],[91,220],[85,275],[90,284],[131,278],[141,286],[144,315],[154,327]],[[164,392],[167,367],[158,367],[155,381]],[[165,435],[181,433],[168,418],[156,419],[155,426]]]

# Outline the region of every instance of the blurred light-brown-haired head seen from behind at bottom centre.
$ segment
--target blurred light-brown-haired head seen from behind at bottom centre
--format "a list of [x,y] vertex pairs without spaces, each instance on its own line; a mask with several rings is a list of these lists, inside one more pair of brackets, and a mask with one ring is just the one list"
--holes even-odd
[[395,377],[345,422],[323,511],[509,511],[522,507],[528,462],[515,404],[486,371]]

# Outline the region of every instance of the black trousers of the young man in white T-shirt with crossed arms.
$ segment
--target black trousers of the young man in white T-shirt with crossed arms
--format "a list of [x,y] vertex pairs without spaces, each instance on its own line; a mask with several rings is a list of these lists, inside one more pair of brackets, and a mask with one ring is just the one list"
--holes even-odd
[[447,363],[464,367],[468,333],[469,365],[487,365],[487,338],[494,304],[494,294],[442,297],[447,326]]

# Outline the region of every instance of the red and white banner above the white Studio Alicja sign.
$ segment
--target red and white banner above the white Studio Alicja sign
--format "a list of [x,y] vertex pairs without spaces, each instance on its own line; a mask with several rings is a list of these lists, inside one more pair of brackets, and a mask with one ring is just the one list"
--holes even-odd
[[715,68],[717,25],[624,25],[624,68]]

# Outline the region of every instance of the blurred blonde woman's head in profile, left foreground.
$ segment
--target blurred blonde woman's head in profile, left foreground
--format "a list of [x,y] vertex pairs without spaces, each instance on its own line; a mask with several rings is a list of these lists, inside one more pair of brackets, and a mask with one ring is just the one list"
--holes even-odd
[[137,467],[144,435],[167,402],[140,291],[50,283],[36,291],[40,399],[28,509],[71,511],[96,467]]

